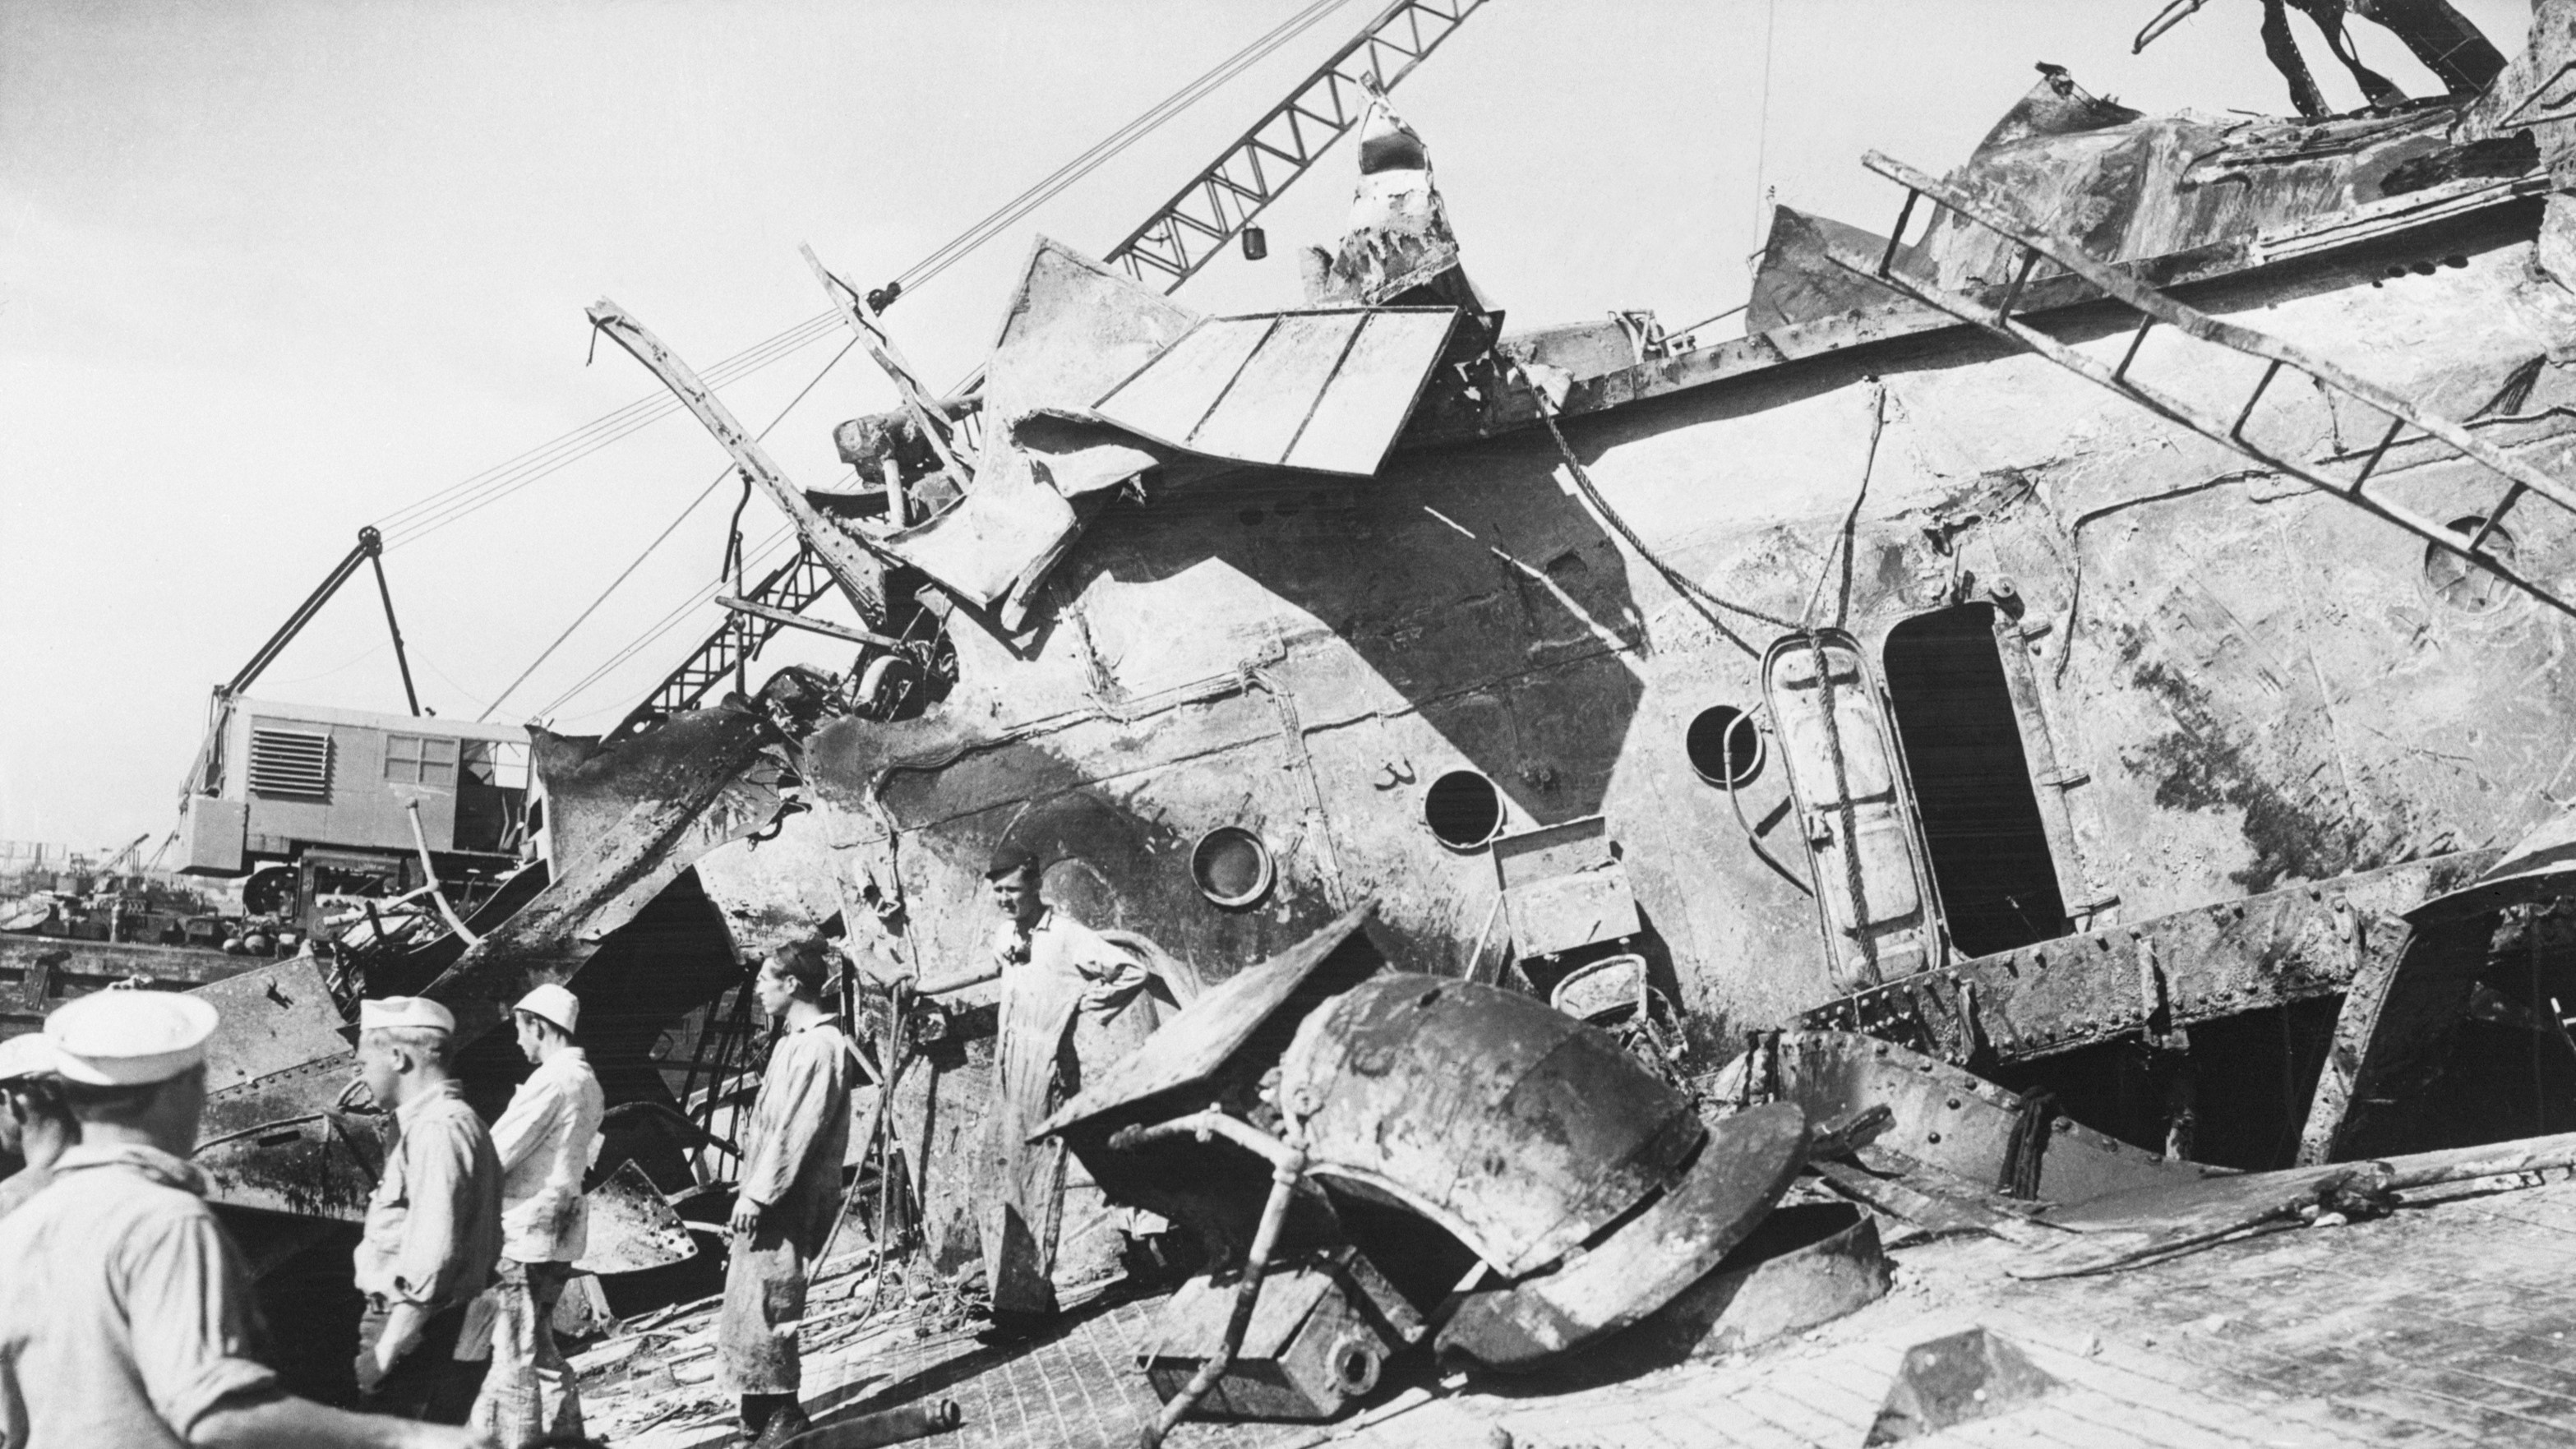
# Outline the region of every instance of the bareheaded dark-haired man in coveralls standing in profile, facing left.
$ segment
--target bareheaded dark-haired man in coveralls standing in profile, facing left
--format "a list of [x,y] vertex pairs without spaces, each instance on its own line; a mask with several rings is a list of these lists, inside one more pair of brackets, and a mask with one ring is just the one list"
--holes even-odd
[[760,1449],[806,1431],[796,1331],[806,1277],[840,1217],[850,1148],[858,1053],[822,1004],[829,975],[822,942],[791,942],[752,978],[755,1001],[783,1035],[742,1132],[716,1367],[724,1390],[742,1398],[744,1439]]

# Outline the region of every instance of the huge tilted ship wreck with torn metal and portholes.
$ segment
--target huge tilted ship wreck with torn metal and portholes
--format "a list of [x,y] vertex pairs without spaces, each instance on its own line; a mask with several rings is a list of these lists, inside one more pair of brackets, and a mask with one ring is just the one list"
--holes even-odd
[[[541,870],[366,988],[492,1024],[567,981],[613,1094],[654,1107],[631,1156],[685,1153],[708,1122],[667,1032],[762,945],[711,883],[930,978],[989,950],[981,867],[1030,847],[1051,901],[1185,996],[1252,1001],[1180,1011],[1051,1122],[1092,1176],[1059,1271],[1108,1197],[1257,1235],[1262,1168],[1193,1204],[1118,1135],[1172,1091],[1226,1081],[1257,1117],[1296,1071],[1345,1081],[1298,1027],[1363,993],[1386,1017],[1386,983],[1546,1004],[1548,1040],[1615,1042],[1659,1104],[1595,1163],[1628,1197],[1502,1233],[1342,1158],[1350,1220],[1412,1210],[1533,1289],[1486,1343],[1654,1310],[1543,1279],[1765,1104],[1806,1127],[1739,1197],[1806,1161],[1986,1228],[2226,1174],[2494,1166],[2576,1086],[2568,69],[2563,0],[2483,88],[2349,116],[2141,116],[2043,67],[1950,172],[1868,160],[1888,229],[1780,208],[1744,337],[1710,342],[1643,311],[1507,327],[1381,98],[1301,304],[1208,317],[1041,239],[971,394],[889,363],[904,409],[842,425],[866,492],[796,486],[603,301],[801,551],[618,731],[533,731]],[[822,275],[894,358],[886,299]],[[706,705],[835,589],[848,677]],[[260,1001],[312,1022],[216,1081],[219,1192],[350,1215],[330,993],[232,991],[227,1032]],[[958,1266],[992,1014],[917,1011],[894,1161]]]

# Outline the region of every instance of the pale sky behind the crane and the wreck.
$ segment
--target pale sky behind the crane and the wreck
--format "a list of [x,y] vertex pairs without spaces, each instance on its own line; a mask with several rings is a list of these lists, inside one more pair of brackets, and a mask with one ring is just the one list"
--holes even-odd
[[[2455,0],[2506,54],[2527,0]],[[1036,232],[1105,252],[1355,33],[1347,0],[891,311],[938,383],[976,365]],[[701,368],[822,311],[796,257],[878,283],[1234,54],[1298,0],[0,5],[0,839],[170,829],[229,677],[361,522],[659,391],[582,306]],[[2151,0],[1492,0],[1396,90],[1466,263],[1515,327],[1734,306],[1777,198],[1883,229],[1878,147],[1947,170],[2058,62],[2143,111],[2280,113],[2254,0],[2143,57]],[[2336,103],[2360,95],[2311,41]],[[1765,108],[1765,28],[1770,98]],[[2362,57],[2424,95],[2393,36]],[[1765,116],[1767,111],[1767,116]],[[1195,306],[1298,301],[1342,229],[1337,147],[1265,216],[1270,260]],[[1713,332],[1731,332],[1734,322]],[[840,337],[729,389],[755,430]],[[891,404],[850,355],[770,435],[832,484],[829,427]],[[500,692],[719,471],[667,417],[386,553],[422,703]],[[726,484],[531,677],[528,718],[716,571]],[[778,517],[760,499],[752,540]],[[549,721],[616,723],[708,605]],[[760,669],[799,654],[773,649]],[[845,667],[837,651],[814,654]],[[258,695],[402,708],[353,579]],[[149,849],[149,847],[147,847]]]

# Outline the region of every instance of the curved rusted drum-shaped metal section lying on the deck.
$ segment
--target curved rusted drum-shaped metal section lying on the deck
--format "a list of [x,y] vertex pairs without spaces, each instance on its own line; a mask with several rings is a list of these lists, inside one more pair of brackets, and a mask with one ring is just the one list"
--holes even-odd
[[1314,1176],[1432,1217],[1507,1277],[1677,1189],[1705,1135],[1610,1035],[1437,975],[1324,1004],[1280,1058],[1280,1102]]

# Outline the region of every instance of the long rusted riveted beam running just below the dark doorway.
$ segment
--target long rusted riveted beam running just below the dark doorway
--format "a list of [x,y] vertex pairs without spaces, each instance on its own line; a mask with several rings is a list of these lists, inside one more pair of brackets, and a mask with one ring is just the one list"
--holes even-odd
[[1806,1011],[1819,1029],[1868,1032],[1968,1060],[2032,1060],[2141,1029],[2334,996],[2365,960],[2393,957],[2406,932],[2370,932],[2483,872],[2494,849],[2437,854],[2267,891],[2133,927],[2105,927],[2032,947],[1950,963]]

